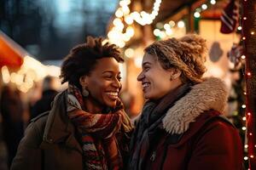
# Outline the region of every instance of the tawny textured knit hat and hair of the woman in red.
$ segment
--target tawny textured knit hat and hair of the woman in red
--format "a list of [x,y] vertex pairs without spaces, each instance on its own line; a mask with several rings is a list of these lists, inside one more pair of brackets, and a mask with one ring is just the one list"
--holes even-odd
[[195,34],[154,42],[144,51],[156,56],[164,69],[177,68],[182,71],[182,82],[201,82],[201,77],[207,71],[204,65],[207,43]]

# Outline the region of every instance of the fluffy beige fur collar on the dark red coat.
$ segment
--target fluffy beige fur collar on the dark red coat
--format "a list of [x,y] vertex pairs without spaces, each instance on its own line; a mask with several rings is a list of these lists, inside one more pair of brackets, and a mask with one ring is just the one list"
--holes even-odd
[[223,81],[210,77],[192,87],[190,92],[179,99],[166,113],[163,127],[167,133],[184,133],[189,123],[204,111],[224,111],[228,90]]

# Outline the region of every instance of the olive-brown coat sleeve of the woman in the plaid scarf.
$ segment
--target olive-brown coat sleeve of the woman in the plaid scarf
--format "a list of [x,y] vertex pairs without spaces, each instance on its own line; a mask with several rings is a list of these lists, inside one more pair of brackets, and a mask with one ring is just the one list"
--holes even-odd
[[41,150],[39,145],[42,142],[40,134],[35,122],[29,124],[26,133],[20,144],[11,165],[11,170],[40,170],[41,169]]

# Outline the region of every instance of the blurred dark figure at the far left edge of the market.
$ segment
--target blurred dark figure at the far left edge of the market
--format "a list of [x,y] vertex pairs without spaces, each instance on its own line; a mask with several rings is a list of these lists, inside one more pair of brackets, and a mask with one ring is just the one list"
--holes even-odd
[[25,111],[20,91],[9,85],[4,86],[0,98],[3,141],[8,151],[8,167],[13,161],[20,139],[24,134],[23,114]]

